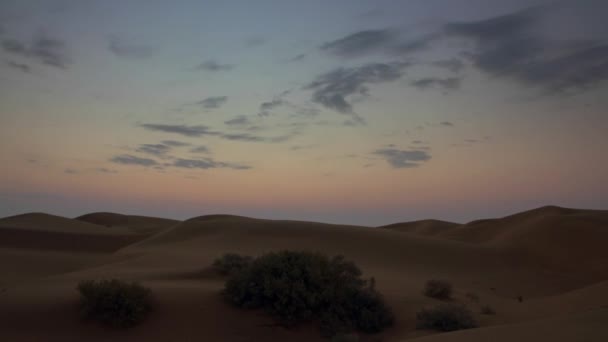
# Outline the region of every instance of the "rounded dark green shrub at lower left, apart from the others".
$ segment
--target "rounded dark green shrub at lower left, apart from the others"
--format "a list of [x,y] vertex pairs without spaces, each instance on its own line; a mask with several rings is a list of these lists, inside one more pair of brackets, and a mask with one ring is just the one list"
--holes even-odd
[[86,280],[78,284],[86,318],[115,328],[139,324],[152,309],[150,289],[121,280]]

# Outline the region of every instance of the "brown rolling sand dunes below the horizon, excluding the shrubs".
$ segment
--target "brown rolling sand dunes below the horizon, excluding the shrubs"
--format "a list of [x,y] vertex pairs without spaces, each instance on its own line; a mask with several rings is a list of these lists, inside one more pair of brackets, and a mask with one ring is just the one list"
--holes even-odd
[[[542,207],[468,224],[425,220],[383,227],[207,215],[185,221],[113,213],[0,220],[3,341],[323,341],[225,303],[211,264],[224,253],[341,254],[374,276],[395,325],[361,341],[606,341],[608,211]],[[145,321],[116,330],[83,321],[84,279],[134,280],[154,293]],[[429,279],[453,284],[480,327],[416,329]],[[482,314],[489,306],[492,314]]]

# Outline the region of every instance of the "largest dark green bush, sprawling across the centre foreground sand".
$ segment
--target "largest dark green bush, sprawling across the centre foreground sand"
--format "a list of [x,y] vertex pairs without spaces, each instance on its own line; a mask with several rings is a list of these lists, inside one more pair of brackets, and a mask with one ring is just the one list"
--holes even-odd
[[375,333],[393,323],[382,296],[342,256],[268,253],[228,278],[223,294],[238,307],[263,309],[284,326],[317,321],[326,336]]

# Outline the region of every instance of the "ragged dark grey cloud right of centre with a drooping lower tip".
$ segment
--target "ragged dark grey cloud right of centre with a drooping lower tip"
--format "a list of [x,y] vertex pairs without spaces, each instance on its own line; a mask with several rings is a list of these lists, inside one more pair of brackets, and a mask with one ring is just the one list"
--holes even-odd
[[395,81],[401,78],[406,66],[407,63],[370,63],[360,67],[338,68],[318,76],[304,89],[313,91],[312,102],[358,118],[353,115],[353,106],[347,97],[368,96],[370,84]]

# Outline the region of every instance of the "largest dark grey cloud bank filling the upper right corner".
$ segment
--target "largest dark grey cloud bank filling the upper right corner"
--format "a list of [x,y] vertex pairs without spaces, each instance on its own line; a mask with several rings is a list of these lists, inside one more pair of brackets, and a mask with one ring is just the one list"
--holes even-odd
[[[584,91],[608,80],[608,35],[604,33],[599,40],[575,39],[562,31],[585,26],[597,33],[592,29],[597,26],[594,22],[566,24],[584,11],[597,12],[601,6],[608,9],[608,4],[597,1],[538,6],[487,20],[448,24],[444,31],[475,43],[469,57],[483,72],[511,78],[548,94]],[[583,17],[589,17],[589,21],[593,18]],[[549,32],[548,27],[560,35]]]

